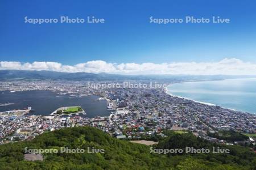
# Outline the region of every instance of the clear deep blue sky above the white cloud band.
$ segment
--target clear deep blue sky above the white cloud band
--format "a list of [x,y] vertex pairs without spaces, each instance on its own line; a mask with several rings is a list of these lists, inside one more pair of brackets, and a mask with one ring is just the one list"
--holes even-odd
[[[256,63],[256,2],[0,1],[0,61]],[[24,23],[28,18],[104,18],[105,23]],[[150,23],[154,18],[229,18],[230,23]]]

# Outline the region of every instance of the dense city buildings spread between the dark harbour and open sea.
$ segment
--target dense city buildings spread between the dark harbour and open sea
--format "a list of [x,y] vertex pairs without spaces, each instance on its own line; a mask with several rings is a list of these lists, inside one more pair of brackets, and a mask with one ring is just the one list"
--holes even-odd
[[[121,85],[117,86],[118,83]],[[0,142],[32,139],[44,131],[73,126],[93,126],[118,139],[135,140],[150,139],[154,136],[164,137],[162,131],[165,129],[192,131],[196,136],[220,143],[227,142],[212,137],[209,133],[230,130],[238,133],[256,133],[255,114],[171,96],[167,94],[166,86],[152,88],[149,82],[143,83],[147,85],[127,88],[123,87],[121,82],[0,82],[0,91],[49,90],[59,95],[73,97],[97,95],[98,100],[108,101],[106,108],[112,111],[107,117],[93,118],[82,114],[63,117],[62,114],[49,113],[48,116],[35,116],[30,112],[31,108],[1,112]],[[237,142],[240,141],[228,144],[233,145]],[[255,143],[253,138],[249,138],[247,142]]]

